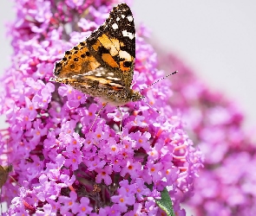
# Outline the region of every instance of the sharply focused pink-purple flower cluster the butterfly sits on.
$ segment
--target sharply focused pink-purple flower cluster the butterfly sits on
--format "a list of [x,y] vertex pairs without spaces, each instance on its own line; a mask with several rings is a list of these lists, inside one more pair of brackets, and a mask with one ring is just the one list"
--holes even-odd
[[[167,187],[174,211],[193,192],[201,154],[167,105],[168,80],[143,91],[144,101],[121,114],[71,86],[49,82],[54,63],[108,16],[111,1],[16,0],[10,26],[12,66],[1,79],[1,114],[9,127],[1,154],[14,166],[15,182],[3,186],[9,215],[156,215],[155,200]],[[101,6],[100,6],[101,5]],[[154,49],[137,31],[134,89],[164,73]],[[3,163],[2,163],[3,164]]]

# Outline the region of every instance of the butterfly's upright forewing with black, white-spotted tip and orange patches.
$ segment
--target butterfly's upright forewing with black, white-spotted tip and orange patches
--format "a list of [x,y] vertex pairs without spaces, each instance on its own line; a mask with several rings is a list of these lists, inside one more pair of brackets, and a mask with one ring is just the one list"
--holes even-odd
[[126,3],[118,4],[102,26],[87,39],[89,49],[102,67],[130,86],[135,67],[135,23]]

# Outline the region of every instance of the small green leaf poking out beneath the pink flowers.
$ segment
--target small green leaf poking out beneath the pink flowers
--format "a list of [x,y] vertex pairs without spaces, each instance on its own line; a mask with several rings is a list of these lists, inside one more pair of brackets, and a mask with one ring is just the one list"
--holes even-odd
[[155,200],[155,202],[165,213],[167,213],[167,216],[175,216],[173,203],[167,188],[164,188],[164,190],[161,192],[161,199]]

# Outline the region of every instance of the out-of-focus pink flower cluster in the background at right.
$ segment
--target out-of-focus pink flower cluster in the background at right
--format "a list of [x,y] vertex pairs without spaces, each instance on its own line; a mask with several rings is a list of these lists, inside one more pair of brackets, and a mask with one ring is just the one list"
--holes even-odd
[[162,54],[161,66],[181,72],[179,78],[172,78],[175,93],[169,104],[181,111],[205,156],[187,205],[199,216],[255,215],[256,145],[243,128],[239,107],[211,91],[174,55]]

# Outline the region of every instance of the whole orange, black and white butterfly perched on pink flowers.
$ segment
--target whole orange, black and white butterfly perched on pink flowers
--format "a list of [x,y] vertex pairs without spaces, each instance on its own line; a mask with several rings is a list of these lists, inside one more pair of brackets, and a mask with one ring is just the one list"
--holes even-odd
[[134,68],[135,23],[128,5],[121,3],[99,29],[56,62],[53,80],[120,106],[143,98],[131,88]]

